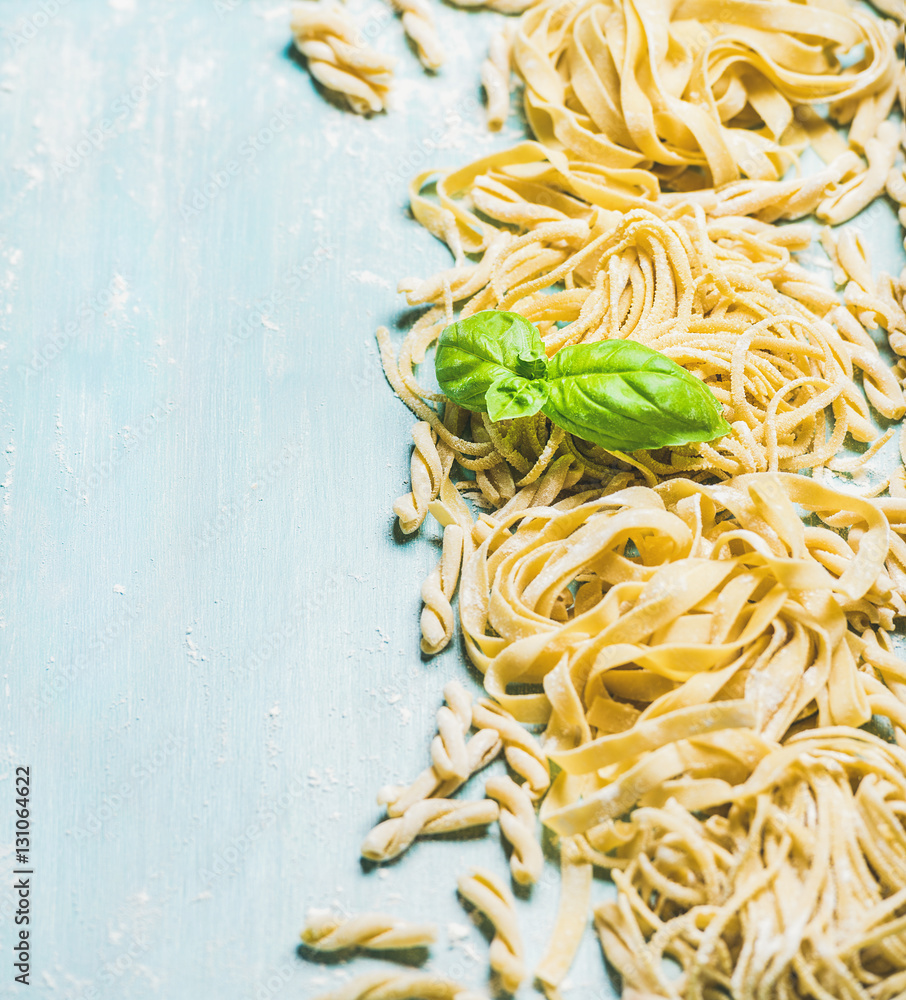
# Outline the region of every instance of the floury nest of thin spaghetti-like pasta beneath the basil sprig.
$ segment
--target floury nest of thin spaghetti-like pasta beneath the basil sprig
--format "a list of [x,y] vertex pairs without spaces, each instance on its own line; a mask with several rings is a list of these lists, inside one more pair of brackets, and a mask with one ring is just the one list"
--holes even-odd
[[[486,213],[492,208],[483,204]],[[615,461],[649,485],[695,472],[729,477],[821,466],[847,434],[865,442],[876,437],[853,382],[854,366],[867,374],[865,391],[880,412],[897,418],[906,408],[859,318],[866,311],[880,314],[898,330],[906,317],[899,318],[892,296],[860,291],[850,282],[849,316],[842,317],[836,296],[792,264],[787,246],[766,224],[741,224],[736,217],[709,221],[696,206],[680,206],[665,218],[646,209],[597,212],[588,221],[550,221],[522,237],[507,236],[488,253],[490,269],[467,265],[459,269],[465,280],[448,282],[454,298],[471,294],[462,315],[489,308],[518,312],[539,325],[548,353],[600,339],[638,340],[699,374],[724,404],[732,428],[718,442],[627,456],[578,442],[544,417],[495,427],[467,415],[475,442],[469,450],[492,449],[482,450],[476,477],[493,507],[536,504],[536,498],[517,500],[516,491],[558,461],[561,490],[576,484],[601,489],[619,469]],[[564,291],[555,290],[558,283]],[[422,287],[409,298],[437,294]],[[442,326],[438,318],[427,332],[417,332],[419,354]],[[408,349],[407,356],[415,351]],[[431,403],[432,395],[414,379],[407,379],[406,389],[410,406]],[[445,419],[460,421],[455,409],[445,406]],[[450,447],[460,465],[476,467],[462,434],[450,439]]]

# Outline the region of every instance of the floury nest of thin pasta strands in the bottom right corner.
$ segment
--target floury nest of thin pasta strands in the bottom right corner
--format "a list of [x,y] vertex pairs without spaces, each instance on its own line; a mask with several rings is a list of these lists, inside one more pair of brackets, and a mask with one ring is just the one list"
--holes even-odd
[[726,798],[726,817],[668,801],[600,835],[628,861],[595,911],[623,982],[664,998],[902,996],[903,751],[858,730],[800,733]]

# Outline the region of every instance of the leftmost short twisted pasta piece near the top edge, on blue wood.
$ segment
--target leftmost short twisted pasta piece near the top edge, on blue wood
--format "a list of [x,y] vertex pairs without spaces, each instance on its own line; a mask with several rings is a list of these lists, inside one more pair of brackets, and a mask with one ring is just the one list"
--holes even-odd
[[296,48],[311,75],[341,95],[357,114],[383,111],[393,77],[393,61],[365,45],[341,7],[297,3],[290,26]]

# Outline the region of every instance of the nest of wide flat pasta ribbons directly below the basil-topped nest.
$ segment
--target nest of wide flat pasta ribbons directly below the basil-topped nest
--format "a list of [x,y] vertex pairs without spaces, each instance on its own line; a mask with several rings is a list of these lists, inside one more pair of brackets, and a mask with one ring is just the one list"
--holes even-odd
[[[842,517],[847,537],[794,504]],[[689,735],[856,727],[873,699],[906,728],[878,679],[906,680],[879,638],[906,613],[903,543],[871,502],[802,476],[676,479],[483,527],[460,590],[467,649],[502,707],[547,726],[558,781],[580,779],[578,811],[545,802],[557,832],[619,815],[614,781]]]

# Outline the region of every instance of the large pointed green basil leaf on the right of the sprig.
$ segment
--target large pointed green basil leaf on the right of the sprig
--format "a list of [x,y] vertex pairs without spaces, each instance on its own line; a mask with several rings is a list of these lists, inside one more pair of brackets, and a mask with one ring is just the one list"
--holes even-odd
[[548,364],[547,382],[545,415],[609,451],[711,441],[730,430],[703,382],[631,340],[564,347]]

